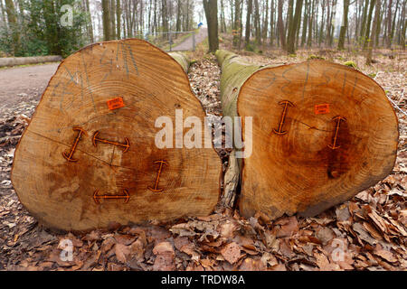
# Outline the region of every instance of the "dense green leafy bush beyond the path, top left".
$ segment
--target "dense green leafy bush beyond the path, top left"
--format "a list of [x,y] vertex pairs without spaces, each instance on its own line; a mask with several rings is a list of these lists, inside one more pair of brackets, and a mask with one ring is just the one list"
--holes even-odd
[[[66,57],[85,43],[86,14],[80,11],[78,0],[22,0],[24,15],[18,27],[0,30],[0,51],[14,56],[62,55]],[[72,7],[71,25],[62,25],[63,5]],[[66,16],[65,16],[66,17]],[[18,30],[19,42],[12,41]],[[18,45],[19,47],[15,47]]]

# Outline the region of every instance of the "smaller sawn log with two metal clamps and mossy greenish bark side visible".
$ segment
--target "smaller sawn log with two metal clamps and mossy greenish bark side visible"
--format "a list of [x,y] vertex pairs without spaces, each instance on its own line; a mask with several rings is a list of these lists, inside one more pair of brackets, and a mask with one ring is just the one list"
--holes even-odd
[[246,130],[252,139],[229,172],[240,177],[242,216],[315,216],[392,172],[398,121],[374,79],[327,61],[256,68],[216,55],[223,114],[241,117],[242,141]]

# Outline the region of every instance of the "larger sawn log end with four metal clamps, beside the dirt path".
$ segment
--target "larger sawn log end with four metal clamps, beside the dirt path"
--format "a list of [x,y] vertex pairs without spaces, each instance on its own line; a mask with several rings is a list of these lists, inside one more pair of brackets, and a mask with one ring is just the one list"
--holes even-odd
[[178,147],[187,117],[204,123],[204,109],[166,52],[137,39],[92,44],[62,61],[45,89],[15,150],[14,189],[36,219],[62,230],[206,216],[222,163],[211,139]]

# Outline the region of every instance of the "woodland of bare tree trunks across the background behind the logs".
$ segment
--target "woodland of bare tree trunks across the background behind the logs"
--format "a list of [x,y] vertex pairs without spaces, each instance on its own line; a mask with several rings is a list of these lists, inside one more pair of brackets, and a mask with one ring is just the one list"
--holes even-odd
[[[68,26],[61,23],[63,5],[73,8]],[[0,11],[3,56],[65,57],[91,42],[147,33],[166,38],[205,19],[211,51],[218,32],[232,34],[233,48],[247,51],[404,50],[407,26],[405,0],[1,0]]]

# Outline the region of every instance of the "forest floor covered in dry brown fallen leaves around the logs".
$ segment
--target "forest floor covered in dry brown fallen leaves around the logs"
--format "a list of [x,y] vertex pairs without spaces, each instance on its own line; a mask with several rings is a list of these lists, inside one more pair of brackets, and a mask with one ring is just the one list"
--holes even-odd
[[[355,61],[404,111],[396,111],[400,144],[392,174],[315,218],[243,219],[237,210],[224,210],[150,226],[112,225],[83,235],[57,234],[24,209],[10,182],[15,144],[38,103],[37,97],[12,93],[10,98],[19,100],[0,110],[0,270],[407,270],[407,55],[376,51],[375,63],[368,67],[363,55],[354,52],[241,54],[263,64],[304,61],[309,55]],[[196,97],[208,115],[221,116],[221,70],[214,56],[201,47],[191,57],[195,62],[188,75]],[[227,153],[220,154],[226,165]],[[72,261],[60,257],[65,239],[74,247]]]

